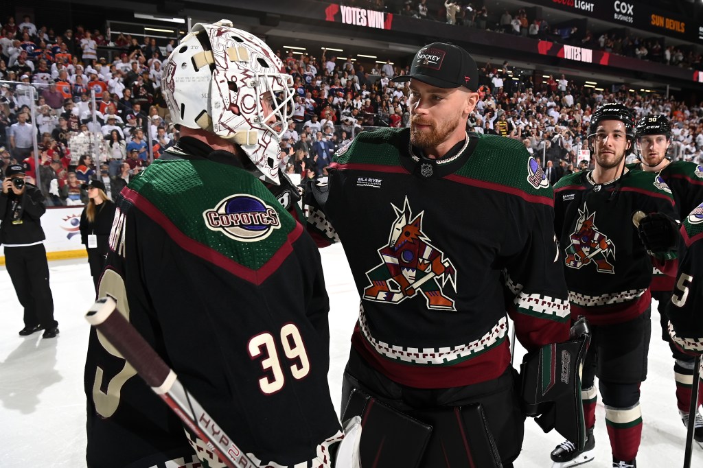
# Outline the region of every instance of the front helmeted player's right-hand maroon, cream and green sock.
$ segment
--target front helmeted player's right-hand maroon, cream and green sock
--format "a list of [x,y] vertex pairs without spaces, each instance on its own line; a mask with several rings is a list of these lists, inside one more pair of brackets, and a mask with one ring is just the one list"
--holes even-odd
[[612,454],[617,460],[635,460],[642,437],[640,403],[631,408],[605,406],[605,424]]

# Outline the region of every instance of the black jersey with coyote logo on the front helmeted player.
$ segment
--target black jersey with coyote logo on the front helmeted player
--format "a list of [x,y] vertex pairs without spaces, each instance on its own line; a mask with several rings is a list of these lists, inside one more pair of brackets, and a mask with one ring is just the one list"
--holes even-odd
[[[592,183],[588,174],[569,174],[554,187],[554,226],[572,316],[586,316],[595,325],[621,323],[651,302],[652,259],[632,216],[642,211],[676,218],[675,203],[657,174],[626,171],[609,184]],[[662,269],[675,264],[662,261]]]

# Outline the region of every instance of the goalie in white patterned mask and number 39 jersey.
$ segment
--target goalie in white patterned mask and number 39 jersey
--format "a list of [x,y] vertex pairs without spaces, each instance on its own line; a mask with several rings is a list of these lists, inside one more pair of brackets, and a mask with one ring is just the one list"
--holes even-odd
[[[320,255],[277,200],[297,194],[278,170],[282,66],[225,20],[176,46],[162,88],[181,138],[122,189],[98,297],[257,466],[330,467],[342,433]],[[89,467],[224,466],[94,330],[85,391]]]

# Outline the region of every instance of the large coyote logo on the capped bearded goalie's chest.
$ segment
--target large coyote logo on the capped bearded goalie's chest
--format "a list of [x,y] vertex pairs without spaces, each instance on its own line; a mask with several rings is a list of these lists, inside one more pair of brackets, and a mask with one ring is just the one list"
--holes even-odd
[[388,245],[378,249],[382,263],[366,272],[371,284],[363,290],[363,298],[399,304],[419,292],[427,308],[456,311],[454,301],[443,290],[449,281],[456,292],[456,269],[423,233],[425,212],[413,218],[407,197],[403,209],[391,206],[397,218],[391,225]]

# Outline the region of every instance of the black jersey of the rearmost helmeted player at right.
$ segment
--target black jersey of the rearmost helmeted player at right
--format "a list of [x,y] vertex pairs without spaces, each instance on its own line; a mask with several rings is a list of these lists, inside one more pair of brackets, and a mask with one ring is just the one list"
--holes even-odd
[[[628,164],[633,170],[642,170],[641,164]],[[659,171],[666,185],[673,193],[676,201],[676,219],[683,220],[688,214],[703,202],[703,167],[695,162],[673,161]],[[665,275],[654,267],[652,291],[671,292],[676,278]]]

